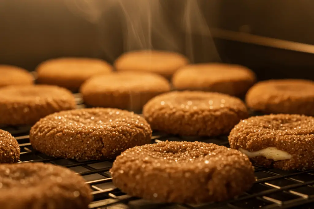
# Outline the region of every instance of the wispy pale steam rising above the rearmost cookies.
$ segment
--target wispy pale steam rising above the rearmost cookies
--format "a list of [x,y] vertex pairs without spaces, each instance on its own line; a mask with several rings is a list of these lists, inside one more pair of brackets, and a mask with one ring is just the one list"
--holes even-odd
[[[98,27],[101,47],[111,59],[115,57],[116,44],[123,42],[124,51],[177,51],[193,62],[195,50],[201,50],[203,60],[219,60],[201,0],[65,0],[65,3],[71,12]],[[112,35],[117,28],[122,31],[121,39]],[[202,41],[201,48],[194,46],[195,35]]]

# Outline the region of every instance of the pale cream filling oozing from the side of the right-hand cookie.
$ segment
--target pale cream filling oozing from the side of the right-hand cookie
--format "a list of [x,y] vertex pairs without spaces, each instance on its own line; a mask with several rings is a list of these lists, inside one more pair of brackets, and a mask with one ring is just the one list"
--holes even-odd
[[292,157],[291,154],[279,150],[276,147],[268,147],[265,149],[258,150],[256,152],[249,152],[245,149],[239,148],[239,151],[242,152],[243,154],[246,154],[249,158],[263,156],[267,159],[273,159],[274,161],[291,159]]

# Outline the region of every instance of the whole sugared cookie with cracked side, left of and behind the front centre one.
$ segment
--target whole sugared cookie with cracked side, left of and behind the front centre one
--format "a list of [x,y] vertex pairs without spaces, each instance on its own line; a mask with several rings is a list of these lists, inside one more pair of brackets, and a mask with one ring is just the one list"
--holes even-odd
[[30,129],[30,143],[47,155],[70,159],[111,159],[150,142],[152,130],[133,112],[111,108],[62,111]]

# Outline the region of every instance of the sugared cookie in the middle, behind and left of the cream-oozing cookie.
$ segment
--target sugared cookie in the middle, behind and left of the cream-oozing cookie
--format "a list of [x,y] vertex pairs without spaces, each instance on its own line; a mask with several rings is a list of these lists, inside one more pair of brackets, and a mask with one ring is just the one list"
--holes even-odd
[[143,107],[152,129],[186,136],[229,133],[248,117],[244,103],[226,94],[173,91],[154,97]]

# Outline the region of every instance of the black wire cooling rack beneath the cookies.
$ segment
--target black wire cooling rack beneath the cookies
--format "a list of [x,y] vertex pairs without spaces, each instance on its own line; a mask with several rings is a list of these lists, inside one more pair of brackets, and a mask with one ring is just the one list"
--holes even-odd
[[[77,96],[78,108],[83,107]],[[207,203],[202,205],[153,203],[124,194],[112,183],[109,173],[113,161],[86,161],[73,159],[58,159],[35,151],[29,141],[30,127],[3,127],[19,142],[21,149],[19,163],[44,162],[67,167],[87,181],[93,190],[94,201],[91,209],[222,209],[222,208],[314,208],[314,170],[283,171],[255,167],[256,182],[252,188],[241,196],[229,201]],[[177,137],[161,133],[153,133],[152,143],[160,141],[202,141],[229,146],[226,136],[216,138]]]

